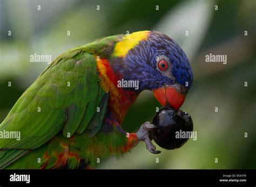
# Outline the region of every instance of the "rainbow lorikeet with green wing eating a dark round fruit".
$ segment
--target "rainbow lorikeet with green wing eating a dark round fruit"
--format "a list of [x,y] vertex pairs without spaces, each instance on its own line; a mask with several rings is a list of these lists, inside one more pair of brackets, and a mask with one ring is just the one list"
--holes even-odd
[[179,109],[192,81],[184,51],[160,32],[114,35],[71,49],[52,61],[0,125],[2,135],[21,133],[19,140],[0,139],[0,168],[95,167],[141,140],[159,153],[149,138],[154,126],[146,122],[126,133],[125,114],[143,90]]

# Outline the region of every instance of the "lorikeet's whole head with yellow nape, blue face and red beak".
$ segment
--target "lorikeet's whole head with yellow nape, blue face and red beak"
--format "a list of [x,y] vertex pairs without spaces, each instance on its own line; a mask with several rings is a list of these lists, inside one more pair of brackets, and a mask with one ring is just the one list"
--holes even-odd
[[163,106],[179,109],[183,104],[193,73],[183,49],[166,34],[140,31],[126,35],[117,42],[113,56],[114,71],[126,81],[138,81],[138,91],[153,91]]

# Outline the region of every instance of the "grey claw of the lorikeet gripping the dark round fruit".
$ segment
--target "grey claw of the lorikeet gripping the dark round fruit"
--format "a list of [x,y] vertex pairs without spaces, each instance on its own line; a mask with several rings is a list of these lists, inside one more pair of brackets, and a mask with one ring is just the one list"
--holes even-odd
[[140,126],[139,131],[137,132],[139,140],[143,140],[146,143],[147,150],[153,154],[161,153],[160,150],[156,150],[156,146],[153,145],[149,138],[149,131],[152,128],[157,128],[157,126],[151,124],[149,121],[146,121],[142,126]]

